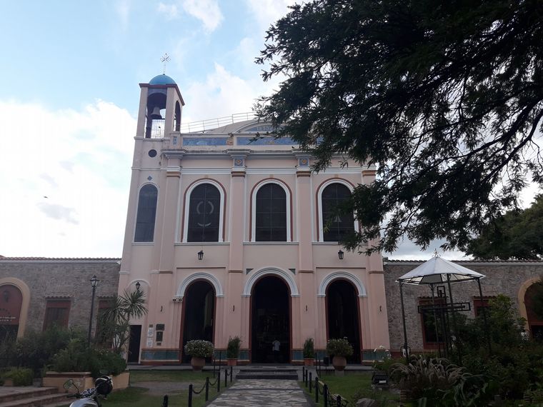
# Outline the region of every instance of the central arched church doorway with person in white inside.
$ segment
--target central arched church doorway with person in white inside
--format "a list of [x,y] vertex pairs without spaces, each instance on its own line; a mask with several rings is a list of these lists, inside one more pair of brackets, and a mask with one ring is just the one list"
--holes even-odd
[[289,361],[289,287],[282,278],[264,276],[251,290],[251,362]]

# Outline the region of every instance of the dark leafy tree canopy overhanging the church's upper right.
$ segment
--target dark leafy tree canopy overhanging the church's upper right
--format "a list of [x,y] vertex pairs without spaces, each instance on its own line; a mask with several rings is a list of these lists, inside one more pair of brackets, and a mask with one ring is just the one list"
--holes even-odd
[[338,155],[376,165],[347,248],[462,248],[542,184],[542,38],[538,0],[314,0],[267,31],[257,62],[286,79],[256,109],[317,171]]

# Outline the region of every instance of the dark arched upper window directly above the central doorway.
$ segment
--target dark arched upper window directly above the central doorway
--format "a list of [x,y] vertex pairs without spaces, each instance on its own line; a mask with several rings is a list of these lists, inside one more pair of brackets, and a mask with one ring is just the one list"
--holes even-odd
[[287,194],[281,186],[264,184],[256,192],[255,241],[287,241]]

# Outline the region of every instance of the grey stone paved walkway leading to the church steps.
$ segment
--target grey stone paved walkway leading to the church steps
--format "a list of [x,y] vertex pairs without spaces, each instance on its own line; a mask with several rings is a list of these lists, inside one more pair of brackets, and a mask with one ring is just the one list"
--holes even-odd
[[311,403],[294,380],[240,380],[221,394],[209,407],[309,407]]

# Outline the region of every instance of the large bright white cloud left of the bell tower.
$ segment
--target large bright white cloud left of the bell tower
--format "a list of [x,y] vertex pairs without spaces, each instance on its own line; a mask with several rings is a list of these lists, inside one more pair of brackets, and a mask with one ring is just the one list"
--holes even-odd
[[0,121],[0,254],[120,257],[135,119],[0,101]]

